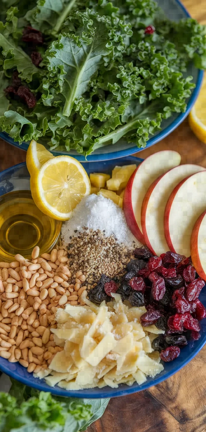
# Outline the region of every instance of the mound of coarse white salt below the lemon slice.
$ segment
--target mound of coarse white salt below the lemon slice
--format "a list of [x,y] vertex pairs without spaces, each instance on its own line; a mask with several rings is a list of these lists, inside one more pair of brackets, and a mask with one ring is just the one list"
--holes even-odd
[[72,218],[62,225],[62,243],[66,247],[72,237],[77,237],[77,231],[83,227],[104,232],[106,237],[114,234],[119,244],[124,243],[129,248],[140,247],[140,242],[128,228],[123,210],[102,195],[91,194],[84,197],[72,213]]

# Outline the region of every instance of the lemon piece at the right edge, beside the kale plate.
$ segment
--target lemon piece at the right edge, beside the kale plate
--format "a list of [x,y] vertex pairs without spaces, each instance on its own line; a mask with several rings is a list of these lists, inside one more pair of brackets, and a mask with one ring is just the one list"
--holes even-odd
[[199,140],[206,144],[206,74],[200,94],[189,114],[189,125]]

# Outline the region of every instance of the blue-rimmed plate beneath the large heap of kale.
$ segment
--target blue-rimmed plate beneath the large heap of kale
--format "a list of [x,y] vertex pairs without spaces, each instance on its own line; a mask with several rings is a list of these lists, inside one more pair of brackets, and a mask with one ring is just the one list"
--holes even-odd
[[[190,16],[179,0],[157,0],[157,3],[164,10],[165,15],[168,16],[173,21],[178,21],[181,18]],[[152,138],[150,138],[150,140],[147,141],[146,147],[153,146],[153,144],[158,143],[167,135],[169,135],[169,133],[175,130],[176,127],[178,127],[178,125],[181,124],[181,122],[189,114],[200,91],[201,83],[203,80],[203,70],[198,70],[193,65],[190,65],[187,69],[187,76],[189,75],[193,76],[194,78],[193,81],[196,84],[196,88],[192,92],[190,99],[187,101],[187,110],[181,114],[173,114],[172,117],[170,117],[168,120],[162,121],[161,132],[156,133]],[[4,132],[0,133],[0,138],[2,138],[4,141],[6,141],[9,144],[12,144],[13,146],[19,147],[19,143],[15,142],[12,138],[10,138],[7,133]],[[23,150],[27,150],[28,143],[25,142],[22,143],[20,148]],[[141,150],[142,149],[139,149],[137,146],[130,147],[130,144],[126,143],[122,139],[118,143],[110,144],[109,146],[102,147],[100,149],[95,150],[94,153],[92,153],[90,156],[87,157],[87,161],[97,162],[97,161],[104,161],[109,159],[122,158],[124,156],[128,156],[133,153],[140,152]],[[54,156],[59,156],[62,154],[65,155],[69,154],[70,156],[74,156],[76,159],[78,159],[78,161],[85,162],[85,157],[77,153],[75,150],[71,150],[70,152],[67,152],[67,151],[58,151],[58,148],[56,148],[53,151]]]

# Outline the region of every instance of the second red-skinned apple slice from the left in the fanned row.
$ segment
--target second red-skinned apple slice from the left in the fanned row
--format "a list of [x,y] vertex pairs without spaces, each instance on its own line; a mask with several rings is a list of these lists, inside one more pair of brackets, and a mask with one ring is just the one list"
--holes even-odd
[[157,178],[149,187],[141,210],[141,225],[146,245],[154,255],[168,251],[164,233],[165,206],[173,189],[184,178],[203,171],[199,165],[179,165]]

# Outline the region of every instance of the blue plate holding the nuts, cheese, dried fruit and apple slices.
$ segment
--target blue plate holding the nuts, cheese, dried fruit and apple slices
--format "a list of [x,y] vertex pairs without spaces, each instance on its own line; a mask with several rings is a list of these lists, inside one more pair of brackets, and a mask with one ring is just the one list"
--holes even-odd
[[[99,162],[98,171],[110,173],[115,165],[127,165],[131,163],[136,163],[138,165],[141,161],[142,159],[128,156],[127,158],[123,158],[121,160],[118,159],[109,162]],[[95,162],[89,162],[83,165],[88,174],[90,174],[90,172],[94,172],[94,170],[97,172],[97,164]],[[29,189],[29,174],[25,163],[16,165],[0,173],[0,195],[18,189]],[[200,301],[206,306],[206,288],[203,288],[200,294]],[[19,363],[9,363],[8,360],[1,357],[0,370],[10,377],[15,378],[17,381],[21,381],[23,384],[37,388],[38,390],[50,391],[52,394],[57,394],[59,396],[84,397],[91,399],[123,396],[125,394],[136,393],[137,391],[145,390],[146,388],[149,388],[155,384],[159,384],[161,381],[169,378],[171,375],[175,374],[175,372],[178,372],[181,368],[183,368],[183,366],[185,366],[188,362],[190,362],[190,360],[196,356],[196,354],[206,343],[206,319],[200,322],[200,326],[200,339],[196,342],[190,341],[186,347],[181,349],[178,359],[175,359],[170,363],[165,363],[164,371],[162,371],[159,375],[156,375],[156,378],[148,378],[147,381],[142,385],[138,385],[136,383],[131,387],[128,387],[126,384],[120,384],[119,388],[117,389],[104,387],[101,389],[93,388],[79,391],[67,391],[58,386],[48,386],[44,379],[40,380],[38,378],[34,378],[33,375],[29,374],[25,368],[19,365]]]

